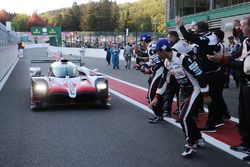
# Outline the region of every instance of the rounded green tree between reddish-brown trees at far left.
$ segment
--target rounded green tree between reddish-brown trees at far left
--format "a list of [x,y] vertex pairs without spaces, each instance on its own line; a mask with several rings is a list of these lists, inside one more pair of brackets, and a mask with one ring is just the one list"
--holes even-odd
[[12,26],[15,28],[15,31],[24,32],[26,31],[27,22],[28,16],[26,14],[17,14],[12,19]]

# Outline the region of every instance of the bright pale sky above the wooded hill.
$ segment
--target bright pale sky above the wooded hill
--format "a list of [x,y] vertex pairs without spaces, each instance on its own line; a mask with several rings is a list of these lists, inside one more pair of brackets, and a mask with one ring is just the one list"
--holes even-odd
[[[89,2],[89,0],[0,0],[0,10],[5,9],[10,13],[25,13],[31,15],[34,11],[42,13],[49,10],[71,7],[74,1],[76,1],[78,5]],[[135,1],[138,0],[116,0],[117,3]]]

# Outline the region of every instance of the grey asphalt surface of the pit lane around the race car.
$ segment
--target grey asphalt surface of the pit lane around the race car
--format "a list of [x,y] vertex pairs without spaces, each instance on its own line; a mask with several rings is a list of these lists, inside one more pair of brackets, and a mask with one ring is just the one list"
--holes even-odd
[[[166,122],[148,124],[149,113],[114,95],[111,110],[67,106],[31,111],[30,59],[42,58],[44,51],[25,50],[0,92],[0,167],[249,166],[211,145],[192,159],[181,157],[185,141],[180,129]],[[86,58],[86,66],[147,86],[144,75],[113,70],[103,59]]]

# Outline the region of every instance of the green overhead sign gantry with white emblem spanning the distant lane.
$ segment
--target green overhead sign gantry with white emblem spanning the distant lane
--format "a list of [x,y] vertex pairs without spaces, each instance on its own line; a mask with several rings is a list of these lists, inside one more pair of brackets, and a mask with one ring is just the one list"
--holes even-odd
[[56,38],[58,45],[62,44],[62,28],[60,26],[34,26],[31,27],[31,34],[33,36],[50,36],[50,41],[54,41]]

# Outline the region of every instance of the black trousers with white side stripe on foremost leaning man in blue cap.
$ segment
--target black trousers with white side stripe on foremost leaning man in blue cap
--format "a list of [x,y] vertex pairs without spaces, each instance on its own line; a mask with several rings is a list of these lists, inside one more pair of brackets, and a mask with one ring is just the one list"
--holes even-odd
[[201,98],[202,95],[197,88],[194,90],[193,87],[181,87],[180,101],[183,101],[183,107],[179,119],[186,141],[190,145],[194,145],[201,138],[201,132],[193,118],[199,111]]

